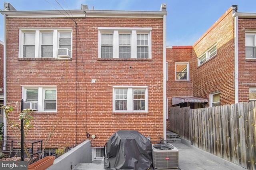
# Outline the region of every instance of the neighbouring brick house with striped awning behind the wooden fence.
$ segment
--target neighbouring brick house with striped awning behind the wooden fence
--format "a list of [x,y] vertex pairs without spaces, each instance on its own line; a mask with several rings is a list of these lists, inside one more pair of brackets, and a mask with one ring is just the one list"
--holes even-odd
[[[256,13],[237,12],[237,6],[232,6],[194,45],[167,46],[168,107],[256,101],[255,45]],[[186,69],[177,70],[179,65]],[[187,77],[178,77],[181,73]],[[201,100],[182,103],[186,97]]]

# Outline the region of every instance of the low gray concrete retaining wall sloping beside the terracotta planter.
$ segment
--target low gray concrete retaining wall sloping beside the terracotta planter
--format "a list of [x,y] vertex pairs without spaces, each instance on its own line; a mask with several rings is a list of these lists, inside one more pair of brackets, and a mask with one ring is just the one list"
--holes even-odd
[[[67,170],[72,169],[78,163],[91,162],[91,144],[86,140],[70,151],[54,160],[53,165],[46,170]],[[70,168],[68,168],[70,167]]]

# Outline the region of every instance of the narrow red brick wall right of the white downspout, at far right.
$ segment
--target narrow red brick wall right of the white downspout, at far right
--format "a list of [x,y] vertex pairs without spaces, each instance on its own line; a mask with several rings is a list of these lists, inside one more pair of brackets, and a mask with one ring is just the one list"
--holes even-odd
[[238,19],[238,101],[249,101],[249,87],[256,87],[256,60],[245,59],[245,32],[256,30],[256,19]]

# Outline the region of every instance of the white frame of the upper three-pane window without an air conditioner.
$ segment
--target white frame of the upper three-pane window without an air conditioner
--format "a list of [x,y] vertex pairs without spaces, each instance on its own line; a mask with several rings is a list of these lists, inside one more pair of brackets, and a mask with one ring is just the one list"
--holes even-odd
[[119,58],[119,34],[131,34],[131,58],[137,58],[137,34],[148,34],[148,59],[152,58],[151,51],[152,28],[115,28],[98,27],[98,58],[101,57],[101,34],[113,34],[113,58]]

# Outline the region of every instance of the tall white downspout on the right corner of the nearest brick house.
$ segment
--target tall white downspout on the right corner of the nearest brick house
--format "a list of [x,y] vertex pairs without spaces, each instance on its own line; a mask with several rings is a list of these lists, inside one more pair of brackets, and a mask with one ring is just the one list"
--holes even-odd
[[[162,4],[162,11],[166,10],[167,4]],[[163,123],[164,123],[164,140],[166,140],[166,15],[163,16],[163,71],[164,71],[164,87],[163,87]]]

